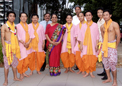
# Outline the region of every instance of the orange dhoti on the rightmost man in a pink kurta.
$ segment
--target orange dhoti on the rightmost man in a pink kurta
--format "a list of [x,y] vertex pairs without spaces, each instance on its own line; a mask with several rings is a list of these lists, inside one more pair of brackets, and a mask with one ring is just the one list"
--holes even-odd
[[95,55],[83,55],[84,70],[89,73],[96,71],[97,57]]

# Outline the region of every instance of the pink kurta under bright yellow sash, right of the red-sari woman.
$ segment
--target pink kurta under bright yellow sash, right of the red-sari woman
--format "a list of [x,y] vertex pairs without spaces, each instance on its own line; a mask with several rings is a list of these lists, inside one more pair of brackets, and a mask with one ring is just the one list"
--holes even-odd
[[[65,26],[65,25],[64,25]],[[75,25],[72,26],[71,28],[71,47],[72,47],[72,53],[75,54],[74,52],[74,46],[75,46]],[[66,32],[64,34],[64,37],[63,37],[63,45],[62,45],[62,50],[61,50],[61,53],[64,53],[64,52],[68,52],[68,49],[67,49],[67,29],[66,29]]]

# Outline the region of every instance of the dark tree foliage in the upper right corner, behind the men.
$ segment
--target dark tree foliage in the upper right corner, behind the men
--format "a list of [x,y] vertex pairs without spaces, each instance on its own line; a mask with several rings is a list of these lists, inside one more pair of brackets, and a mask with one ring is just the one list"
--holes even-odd
[[122,0],[69,0],[84,7],[84,11],[91,10],[93,12],[93,21],[97,22],[97,9],[103,7],[104,9],[110,9],[113,13],[112,19],[119,22],[121,19],[122,11]]

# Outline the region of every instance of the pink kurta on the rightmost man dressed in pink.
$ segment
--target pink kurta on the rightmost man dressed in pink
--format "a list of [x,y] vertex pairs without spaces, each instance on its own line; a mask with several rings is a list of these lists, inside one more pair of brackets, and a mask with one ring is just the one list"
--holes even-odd
[[[79,31],[79,34],[78,34],[78,41],[81,41],[82,43],[85,38],[86,29],[87,29],[87,24],[83,24],[82,29]],[[93,23],[90,26],[90,31],[91,31],[93,55],[96,55],[96,57],[97,57],[98,53],[95,51],[95,47],[97,45],[97,40],[99,40],[98,25],[96,23]],[[87,46],[84,46],[84,45],[83,45],[83,51],[81,53],[81,57],[83,55],[87,55]]]

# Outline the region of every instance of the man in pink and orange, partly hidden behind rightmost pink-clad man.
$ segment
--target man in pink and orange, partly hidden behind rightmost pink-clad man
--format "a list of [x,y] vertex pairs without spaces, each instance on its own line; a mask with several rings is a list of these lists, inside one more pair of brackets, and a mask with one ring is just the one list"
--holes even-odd
[[84,75],[84,65],[83,65],[83,60],[81,58],[81,51],[80,51],[80,43],[78,43],[77,38],[78,35],[82,35],[82,30],[84,30],[84,24],[86,23],[86,21],[84,20],[84,13],[79,13],[79,20],[80,23],[78,25],[76,25],[75,28],[75,38],[76,38],[76,45],[74,48],[75,51],[75,59],[76,59],[76,65],[79,69],[79,72],[77,74],[80,74],[82,72],[82,74]]

